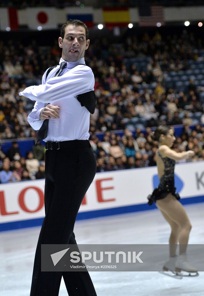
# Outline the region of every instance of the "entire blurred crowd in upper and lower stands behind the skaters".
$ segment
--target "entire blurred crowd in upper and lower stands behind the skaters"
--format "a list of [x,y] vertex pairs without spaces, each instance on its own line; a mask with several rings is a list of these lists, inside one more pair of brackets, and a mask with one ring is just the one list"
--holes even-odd
[[[177,138],[174,148],[179,151],[193,148],[196,153],[193,160],[203,159],[204,112],[200,93],[204,89],[198,88],[195,79],[190,79],[183,91],[170,87],[165,80],[170,71],[188,70],[190,61],[204,59],[202,48],[202,40],[186,32],[179,36],[145,33],[139,38],[128,36],[117,44],[109,44],[106,38],[92,41],[86,62],[95,76],[97,104],[89,132],[97,171],[155,165],[156,144],[150,141],[149,134],[150,127],[159,124],[183,124],[185,133]],[[44,71],[57,65],[60,57],[58,42],[41,47],[35,40],[27,46],[20,41],[8,40],[6,44],[0,41],[2,140],[35,138],[35,131],[27,123],[33,102],[18,93],[26,86],[40,84]],[[135,57],[146,63],[131,63]],[[191,132],[194,114],[201,126]],[[136,136],[127,129],[130,120],[137,127]],[[140,129],[146,129],[146,133],[139,132]],[[118,130],[125,130],[124,136],[120,137]],[[105,133],[103,141],[99,141],[97,132]],[[8,172],[3,175],[10,181],[38,178],[39,172],[39,176],[44,176],[44,156],[38,159],[33,151],[34,156],[29,152],[27,159],[20,153],[18,159],[12,159],[0,153],[2,171]]]

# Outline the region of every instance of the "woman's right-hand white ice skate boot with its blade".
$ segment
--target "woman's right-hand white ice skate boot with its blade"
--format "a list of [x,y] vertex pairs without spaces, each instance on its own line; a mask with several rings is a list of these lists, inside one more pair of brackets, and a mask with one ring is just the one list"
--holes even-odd
[[[175,271],[177,271],[180,275],[182,276],[198,276],[198,270],[197,268],[191,266],[187,262],[187,254],[182,253],[181,255],[178,256],[175,264]],[[183,273],[186,272],[186,273]]]

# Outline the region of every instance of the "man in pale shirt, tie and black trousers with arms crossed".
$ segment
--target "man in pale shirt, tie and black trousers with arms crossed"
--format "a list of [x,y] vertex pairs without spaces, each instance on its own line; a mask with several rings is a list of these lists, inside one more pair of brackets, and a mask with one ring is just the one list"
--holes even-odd
[[89,144],[94,112],[94,75],[85,65],[87,26],[69,20],[61,28],[59,65],[45,71],[42,84],[20,95],[36,101],[28,122],[45,143],[45,219],[40,231],[30,296],[57,296],[61,277],[69,296],[96,296],[88,271],[41,272],[41,244],[76,244],[74,223],[96,173]]

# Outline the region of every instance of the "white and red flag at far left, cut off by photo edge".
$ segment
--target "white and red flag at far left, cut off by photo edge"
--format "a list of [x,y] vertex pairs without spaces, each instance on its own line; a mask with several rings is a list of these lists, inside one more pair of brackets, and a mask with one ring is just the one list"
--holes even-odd
[[18,10],[15,7],[0,8],[0,30],[4,31],[6,28],[11,30],[18,30]]

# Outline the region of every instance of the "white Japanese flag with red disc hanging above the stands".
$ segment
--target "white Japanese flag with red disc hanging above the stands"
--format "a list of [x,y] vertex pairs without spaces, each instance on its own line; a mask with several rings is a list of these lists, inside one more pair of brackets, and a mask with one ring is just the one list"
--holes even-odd
[[42,27],[42,29],[56,29],[58,27],[56,8],[29,7],[26,11],[29,29],[37,30],[38,27]]

